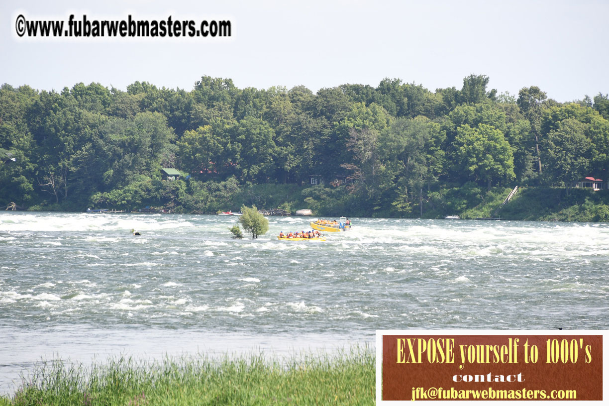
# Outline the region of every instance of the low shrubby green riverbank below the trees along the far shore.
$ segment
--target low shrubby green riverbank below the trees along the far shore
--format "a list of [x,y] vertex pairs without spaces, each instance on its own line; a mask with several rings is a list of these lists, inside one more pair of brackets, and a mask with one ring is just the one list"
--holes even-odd
[[[114,209],[138,211],[151,206],[172,213],[216,214],[238,211],[242,205],[261,209],[280,208],[294,213],[311,209],[322,217],[375,217],[443,219],[459,215],[461,219],[499,217],[505,220],[609,222],[609,191],[565,189],[564,187],[520,187],[512,200],[502,205],[512,187],[485,187],[466,183],[425,192],[423,200],[409,199],[403,206],[393,205],[393,198],[371,199],[348,186],[298,186],[296,184],[245,184],[233,178],[222,182],[144,181],[111,193],[95,194],[88,201],[48,204],[29,207],[32,211],[84,211]],[[421,208],[420,205],[423,207]]]

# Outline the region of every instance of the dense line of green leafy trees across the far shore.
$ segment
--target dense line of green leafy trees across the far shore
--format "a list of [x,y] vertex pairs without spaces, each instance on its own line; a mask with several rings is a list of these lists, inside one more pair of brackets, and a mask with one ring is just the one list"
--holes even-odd
[[[487,85],[485,75],[435,92],[400,79],[315,94],[239,89],[207,76],[191,91],[147,82],[127,91],[78,83],[60,93],[5,84],[0,204],[156,202],[212,212],[229,202],[264,205],[253,185],[300,186],[317,175],[325,187],[301,187],[283,201],[415,216],[446,206],[454,190],[607,180],[607,95],[559,103],[537,86],[513,96]],[[191,178],[161,182],[161,167]],[[329,187],[336,178],[347,186]]]

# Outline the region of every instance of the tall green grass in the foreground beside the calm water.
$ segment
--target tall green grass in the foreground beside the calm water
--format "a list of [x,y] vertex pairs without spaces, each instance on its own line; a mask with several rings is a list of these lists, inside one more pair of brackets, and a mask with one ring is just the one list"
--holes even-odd
[[281,362],[262,354],[41,362],[0,405],[372,405],[374,393],[374,352],[355,348]]

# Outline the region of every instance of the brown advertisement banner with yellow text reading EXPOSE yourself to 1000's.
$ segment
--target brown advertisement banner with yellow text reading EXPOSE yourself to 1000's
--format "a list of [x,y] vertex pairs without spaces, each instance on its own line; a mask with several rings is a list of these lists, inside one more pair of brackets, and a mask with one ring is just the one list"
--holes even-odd
[[602,338],[382,335],[382,401],[602,401]]

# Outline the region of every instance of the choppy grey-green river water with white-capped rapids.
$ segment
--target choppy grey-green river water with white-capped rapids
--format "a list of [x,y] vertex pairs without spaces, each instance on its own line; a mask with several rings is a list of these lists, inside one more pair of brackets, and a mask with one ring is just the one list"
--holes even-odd
[[[41,356],[319,348],[375,329],[607,329],[607,223],[0,214],[0,390]],[[143,234],[132,236],[130,229]]]

